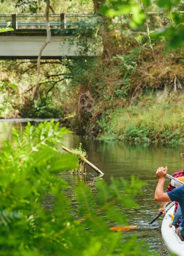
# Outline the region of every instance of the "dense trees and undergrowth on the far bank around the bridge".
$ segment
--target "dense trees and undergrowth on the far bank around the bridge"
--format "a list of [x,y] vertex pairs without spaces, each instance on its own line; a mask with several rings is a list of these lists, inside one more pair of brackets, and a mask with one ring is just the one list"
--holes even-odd
[[[44,1],[25,3],[3,1],[1,13],[45,11]],[[76,56],[41,59],[36,94],[37,59],[1,60],[0,79],[18,86],[1,91],[1,118],[59,118],[87,137],[183,144],[183,2],[135,1],[139,17],[110,4],[50,1],[50,13],[91,13],[96,22],[74,30]],[[87,56],[89,40],[101,54]]]

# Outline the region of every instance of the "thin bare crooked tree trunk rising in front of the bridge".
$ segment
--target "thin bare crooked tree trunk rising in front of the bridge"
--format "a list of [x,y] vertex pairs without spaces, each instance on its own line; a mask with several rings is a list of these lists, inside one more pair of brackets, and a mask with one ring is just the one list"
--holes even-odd
[[46,21],[46,28],[47,28],[47,39],[45,40],[44,44],[42,45],[38,59],[37,59],[37,79],[36,79],[36,87],[33,94],[33,104],[34,100],[37,94],[38,86],[39,86],[39,79],[40,79],[40,60],[41,60],[41,54],[44,48],[51,42],[51,28],[49,24],[49,9],[50,9],[50,0],[46,0],[46,8],[45,8],[45,21]]

